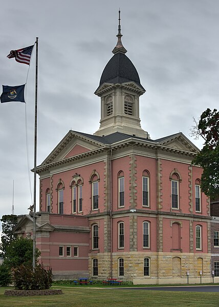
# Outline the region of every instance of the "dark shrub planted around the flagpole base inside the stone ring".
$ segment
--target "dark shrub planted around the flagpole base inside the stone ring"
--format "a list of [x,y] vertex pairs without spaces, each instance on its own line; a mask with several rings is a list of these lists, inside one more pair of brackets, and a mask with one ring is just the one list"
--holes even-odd
[[46,270],[42,264],[21,264],[14,269],[14,288],[16,290],[47,290],[52,285],[52,269]]

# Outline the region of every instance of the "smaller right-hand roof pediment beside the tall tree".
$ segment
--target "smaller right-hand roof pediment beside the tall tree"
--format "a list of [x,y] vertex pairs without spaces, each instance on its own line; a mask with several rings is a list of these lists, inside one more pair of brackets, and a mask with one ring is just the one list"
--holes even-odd
[[181,132],[163,138],[161,141],[159,141],[159,145],[177,150],[199,153],[199,149]]

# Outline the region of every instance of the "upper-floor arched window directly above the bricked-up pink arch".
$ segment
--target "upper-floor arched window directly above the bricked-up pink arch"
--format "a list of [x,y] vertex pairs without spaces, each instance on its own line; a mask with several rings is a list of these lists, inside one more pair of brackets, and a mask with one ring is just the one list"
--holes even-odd
[[182,179],[177,169],[174,169],[170,173],[169,179],[171,181],[171,208],[180,209],[179,182],[181,182]]

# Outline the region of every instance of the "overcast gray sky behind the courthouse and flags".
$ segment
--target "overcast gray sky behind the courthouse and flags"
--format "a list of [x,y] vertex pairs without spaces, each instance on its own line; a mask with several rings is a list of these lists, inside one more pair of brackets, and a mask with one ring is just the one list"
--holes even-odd
[[[98,130],[100,98],[94,91],[117,43],[119,7],[122,43],[146,89],[140,117],[150,137],[183,132],[190,138],[193,117],[206,108],[218,109],[218,0],[3,1],[0,85],[25,84],[28,65],[6,56],[39,37],[37,165],[70,129],[90,134]],[[26,105],[30,168],[34,77],[35,50]],[[31,196],[25,104],[1,104],[0,128],[0,216],[11,214],[13,180],[15,214],[26,214]],[[202,140],[190,139],[202,148]]]

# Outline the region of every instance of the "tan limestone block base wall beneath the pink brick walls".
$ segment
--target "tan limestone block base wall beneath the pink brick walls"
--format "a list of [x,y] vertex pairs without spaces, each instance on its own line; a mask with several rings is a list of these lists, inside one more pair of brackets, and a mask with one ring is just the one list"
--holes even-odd
[[[110,253],[97,254],[98,277],[110,277]],[[144,258],[150,259],[150,275],[144,276]],[[89,272],[92,276],[92,256],[89,259]],[[118,259],[124,259],[124,276],[118,274]],[[112,255],[112,277],[121,280],[130,280],[134,284],[165,284],[187,283],[189,272],[190,283],[200,283],[200,272],[203,282],[210,282],[211,254],[193,253],[144,253],[120,252]]]

